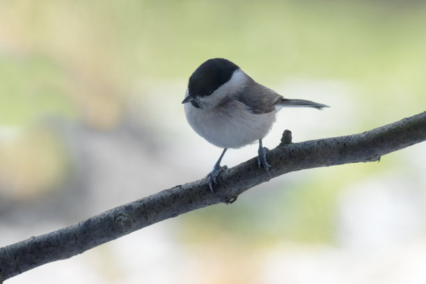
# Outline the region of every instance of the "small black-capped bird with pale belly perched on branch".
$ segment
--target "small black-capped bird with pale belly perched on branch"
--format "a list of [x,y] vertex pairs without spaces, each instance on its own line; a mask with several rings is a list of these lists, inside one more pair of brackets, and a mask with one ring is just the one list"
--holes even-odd
[[269,173],[262,139],[274,124],[282,107],[328,107],[308,100],[289,100],[262,86],[237,65],[224,58],[212,58],[189,77],[184,104],[189,125],[205,140],[223,148],[221,157],[207,175],[210,190],[217,183],[221,160],[228,148],[241,148],[259,141],[258,166]]

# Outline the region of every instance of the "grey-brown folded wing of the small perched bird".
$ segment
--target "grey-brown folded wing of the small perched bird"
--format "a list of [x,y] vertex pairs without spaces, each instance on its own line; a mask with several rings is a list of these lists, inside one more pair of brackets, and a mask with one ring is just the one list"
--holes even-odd
[[257,84],[253,79],[241,93],[237,93],[237,100],[246,105],[252,113],[269,113],[274,111],[283,97],[265,86]]

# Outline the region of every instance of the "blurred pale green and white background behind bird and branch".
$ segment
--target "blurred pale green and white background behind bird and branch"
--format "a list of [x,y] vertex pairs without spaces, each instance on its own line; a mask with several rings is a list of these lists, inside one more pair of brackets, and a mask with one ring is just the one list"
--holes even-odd
[[[0,0],[0,246],[205,177],[221,149],[181,102],[208,58],[331,106],[281,111],[269,148],[425,111],[425,27],[414,0]],[[425,283],[425,157],[283,175],[6,283]]]

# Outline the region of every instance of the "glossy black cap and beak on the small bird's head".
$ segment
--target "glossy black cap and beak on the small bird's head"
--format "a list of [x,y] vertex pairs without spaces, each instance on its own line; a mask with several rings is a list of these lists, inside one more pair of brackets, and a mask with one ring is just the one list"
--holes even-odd
[[232,74],[239,67],[224,58],[212,58],[198,66],[189,77],[189,95],[182,104],[191,102],[196,96],[212,95],[212,93],[230,80]]

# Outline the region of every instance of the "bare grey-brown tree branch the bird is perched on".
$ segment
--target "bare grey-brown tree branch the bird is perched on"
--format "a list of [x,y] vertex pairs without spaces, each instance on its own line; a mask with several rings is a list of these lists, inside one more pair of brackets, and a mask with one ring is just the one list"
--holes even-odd
[[267,152],[271,173],[257,159],[224,168],[212,194],[206,179],[189,182],[113,208],[74,226],[0,248],[0,283],[40,265],[70,258],[130,232],[201,207],[232,203],[239,194],[278,175],[307,168],[379,161],[390,152],[426,140],[426,111],[368,132],[292,143],[286,130]]

